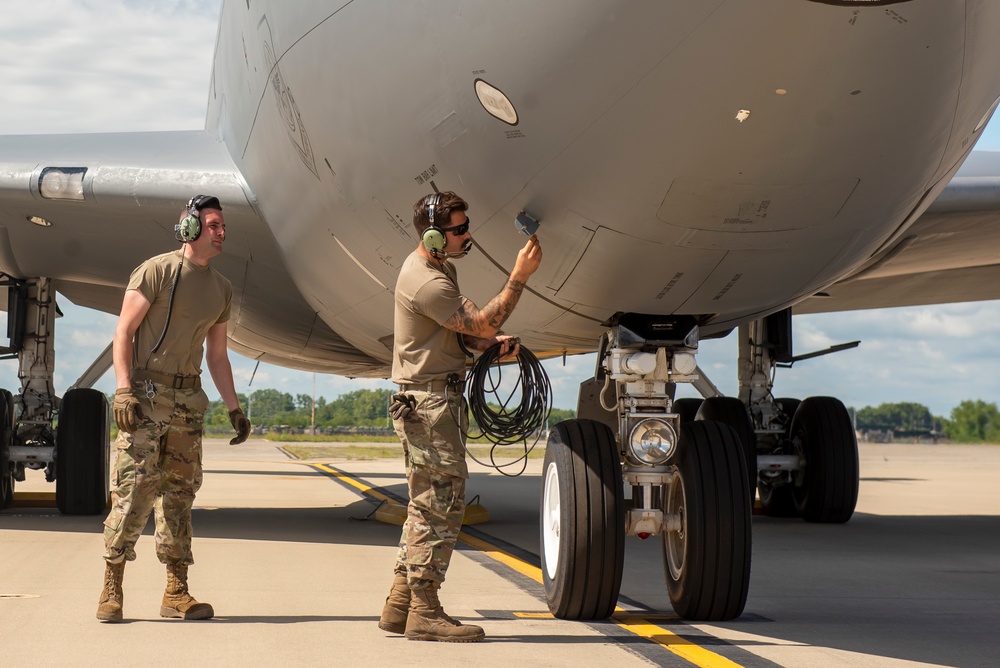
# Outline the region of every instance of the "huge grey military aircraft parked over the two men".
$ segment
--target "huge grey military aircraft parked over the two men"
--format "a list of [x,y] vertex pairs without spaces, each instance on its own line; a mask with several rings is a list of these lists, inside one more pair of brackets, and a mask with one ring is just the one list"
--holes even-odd
[[[553,613],[610,615],[624,537],[661,535],[678,614],[737,617],[755,490],[811,522],[857,500],[843,404],[775,393],[792,309],[1000,297],[1000,160],[953,179],[997,106],[998,31],[987,0],[227,1],[204,131],[0,137],[4,503],[44,468],[63,512],[103,511],[110,357],[55,396],[56,293],[117,313],[193,194],[225,206],[234,350],[386,377],[413,202],[450,189],[466,294],[495,294],[523,213],[545,262],[507,329],[599,351],[544,465]],[[696,353],[735,328],[723,397]]]

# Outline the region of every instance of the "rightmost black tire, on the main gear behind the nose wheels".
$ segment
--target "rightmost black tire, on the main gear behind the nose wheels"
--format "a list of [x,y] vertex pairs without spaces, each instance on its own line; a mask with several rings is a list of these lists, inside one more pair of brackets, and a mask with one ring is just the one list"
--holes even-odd
[[791,435],[805,459],[792,488],[799,515],[807,522],[850,520],[858,503],[858,441],[844,404],[834,397],[803,400]]

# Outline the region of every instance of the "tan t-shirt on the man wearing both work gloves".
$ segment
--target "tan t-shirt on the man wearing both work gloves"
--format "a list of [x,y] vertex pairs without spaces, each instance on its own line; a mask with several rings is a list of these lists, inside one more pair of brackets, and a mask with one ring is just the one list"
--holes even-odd
[[167,317],[170,286],[173,285],[181,251],[152,257],[135,268],[126,290],[138,290],[150,307],[135,334],[132,367],[161,373],[195,376],[201,373],[205,337],[213,325],[229,320],[233,286],[211,267],[184,260],[174,292],[170,326],[156,353]]

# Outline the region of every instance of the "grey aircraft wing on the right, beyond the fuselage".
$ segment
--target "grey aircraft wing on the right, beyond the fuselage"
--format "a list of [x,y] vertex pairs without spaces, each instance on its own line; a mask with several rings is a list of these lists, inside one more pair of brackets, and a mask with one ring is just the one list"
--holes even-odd
[[1000,152],[973,152],[889,248],[796,314],[1000,299]]

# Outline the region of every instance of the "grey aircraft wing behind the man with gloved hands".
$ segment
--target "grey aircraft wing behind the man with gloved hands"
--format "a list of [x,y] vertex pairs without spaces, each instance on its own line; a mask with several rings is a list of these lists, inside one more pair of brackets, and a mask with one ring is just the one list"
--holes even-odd
[[385,375],[385,360],[344,341],[302,297],[225,145],[206,131],[0,136],[0,272],[51,278],[73,303],[118,313],[132,269],[177,248],[174,224],[199,193],[225,210],[213,266],[233,283],[231,348],[293,368]]

